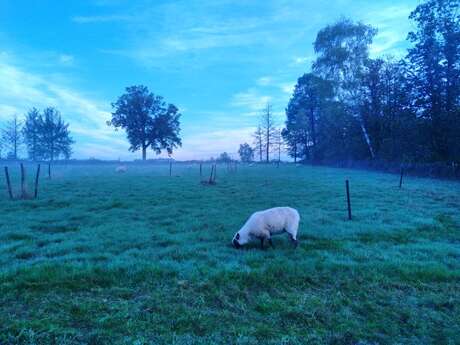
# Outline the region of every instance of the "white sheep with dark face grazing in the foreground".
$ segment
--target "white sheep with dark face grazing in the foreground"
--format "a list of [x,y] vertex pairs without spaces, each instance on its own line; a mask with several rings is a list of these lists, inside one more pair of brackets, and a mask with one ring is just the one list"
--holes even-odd
[[233,246],[241,247],[252,240],[259,239],[262,249],[264,240],[273,247],[272,236],[287,232],[297,247],[297,230],[299,228],[299,212],[291,207],[275,207],[255,212],[233,237]]

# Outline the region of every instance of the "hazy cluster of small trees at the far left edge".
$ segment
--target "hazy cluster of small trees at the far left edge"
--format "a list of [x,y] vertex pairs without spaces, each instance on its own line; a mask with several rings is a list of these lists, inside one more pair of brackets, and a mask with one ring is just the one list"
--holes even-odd
[[56,108],[48,107],[40,112],[32,108],[20,121],[17,116],[1,129],[0,158],[16,160],[25,146],[29,159],[53,161],[70,158],[73,139],[69,125],[62,120]]

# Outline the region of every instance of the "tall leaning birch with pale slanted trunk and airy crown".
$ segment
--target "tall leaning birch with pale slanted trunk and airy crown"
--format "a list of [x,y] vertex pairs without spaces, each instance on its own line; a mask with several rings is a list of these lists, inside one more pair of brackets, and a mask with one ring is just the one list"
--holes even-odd
[[318,54],[313,70],[333,83],[335,94],[358,120],[371,158],[374,147],[361,113],[362,81],[369,59],[369,45],[377,30],[362,23],[342,19],[320,30],[314,43]]

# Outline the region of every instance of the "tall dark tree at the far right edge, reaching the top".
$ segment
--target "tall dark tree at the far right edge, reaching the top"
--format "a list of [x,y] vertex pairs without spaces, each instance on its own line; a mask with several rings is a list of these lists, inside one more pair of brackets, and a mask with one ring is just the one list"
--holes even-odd
[[423,118],[430,160],[460,161],[460,3],[429,0],[410,19],[408,39],[414,105]]

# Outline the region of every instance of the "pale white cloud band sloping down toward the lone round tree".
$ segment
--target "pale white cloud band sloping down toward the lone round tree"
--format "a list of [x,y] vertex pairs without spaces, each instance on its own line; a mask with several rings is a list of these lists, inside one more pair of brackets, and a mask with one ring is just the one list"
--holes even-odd
[[[87,158],[83,150],[85,145],[102,145],[126,152],[129,145],[124,134],[106,125],[111,116],[108,103],[89,99],[46,76],[29,73],[0,55],[0,119],[8,120],[13,114],[23,115],[32,107],[48,106],[56,107],[70,123],[70,131],[76,137],[74,151],[78,158]],[[104,152],[107,150],[93,155],[104,156]]]

